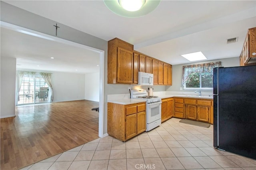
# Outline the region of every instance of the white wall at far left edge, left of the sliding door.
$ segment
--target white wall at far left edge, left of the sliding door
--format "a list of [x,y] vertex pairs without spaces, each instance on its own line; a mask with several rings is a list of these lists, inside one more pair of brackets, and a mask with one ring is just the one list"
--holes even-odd
[[15,116],[16,58],[1,56],[0,118]]

